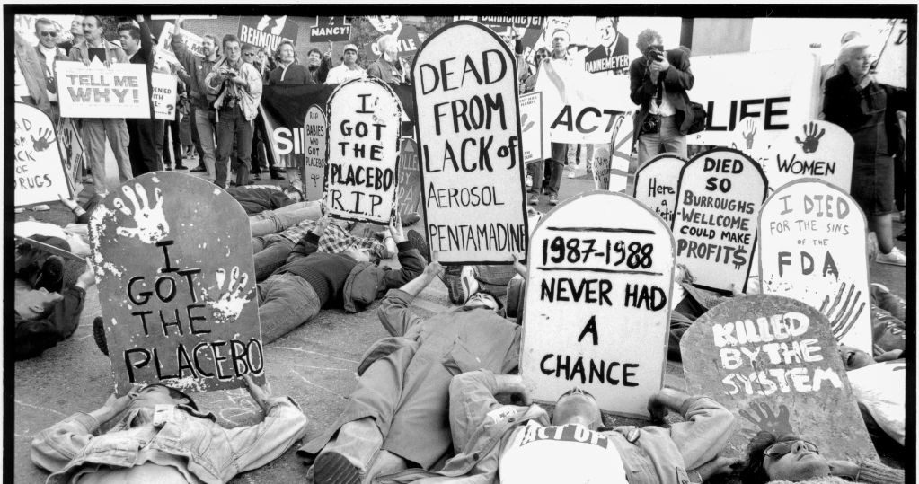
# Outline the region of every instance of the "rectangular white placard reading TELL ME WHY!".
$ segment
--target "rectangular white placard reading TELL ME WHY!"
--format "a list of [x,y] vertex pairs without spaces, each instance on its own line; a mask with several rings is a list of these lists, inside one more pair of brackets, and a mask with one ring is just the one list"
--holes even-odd
[[144,65],[106,67],[96,58],[89,65],[59,61],[55,66],[63,118],[150,118]]

